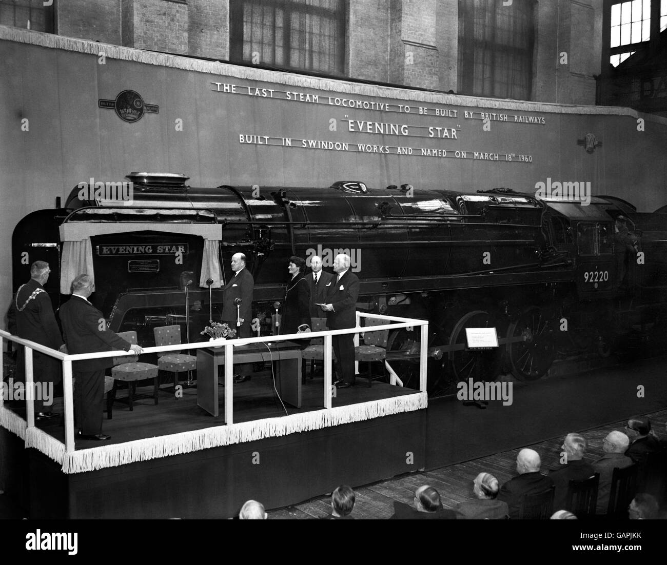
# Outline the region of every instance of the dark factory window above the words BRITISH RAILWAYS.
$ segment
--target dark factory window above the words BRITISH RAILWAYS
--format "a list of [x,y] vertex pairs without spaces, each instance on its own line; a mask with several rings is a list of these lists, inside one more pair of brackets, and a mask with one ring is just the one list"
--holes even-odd
[[458,92],[530,100],[534,0],[459,0]]

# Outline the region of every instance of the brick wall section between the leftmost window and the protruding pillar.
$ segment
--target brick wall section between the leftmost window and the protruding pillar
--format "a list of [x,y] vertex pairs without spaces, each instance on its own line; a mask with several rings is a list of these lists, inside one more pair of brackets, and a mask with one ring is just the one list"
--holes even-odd
[[66,0],[55,7],[58,35],[121,44],[119,0]]

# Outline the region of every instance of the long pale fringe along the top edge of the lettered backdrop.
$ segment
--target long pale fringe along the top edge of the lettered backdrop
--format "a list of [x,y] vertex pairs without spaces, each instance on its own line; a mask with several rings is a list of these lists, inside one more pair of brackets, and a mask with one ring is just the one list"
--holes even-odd
[[[107,59],[119,59],[121,61],[133,61],[145,63],[146,65],[159,65],[172,69],[184,71],[197,71],[224,77],[235,77],[251,81],[262,81],[266,83],[279,83],[289,86],[331,91],[340,94],[354,94],[377,98],[392,98],[410,100],[416,102],[428,102],[434,104],[456,105],[466,107],[495,108],[506,110],[518,110],[524,112],[548,112],[554,114],[600,114],[631,116],[637,118],[640,114],[626,107],[615,106],[579,106],[564,105],[548,102],[516,101],[508,99],[480,98],[457,94],[444,94],[426,91],[414,91],[408,89],[383,87],[380,85],[366,85],[352,83],[343,80],[321,79],[318,77],[307,77],[295,73],[281,71],[267,71],[266,69],[255,69],[252,67],[239,67],[229,63],[217,61],[203,61],[179,55],[166,55],[165,53],[153,53],[153,51],[142,51],[132,47],[121,47],[97,41],[85,41],[62,35],[52,35],[39,31],[29,31],[18,27],[0,25],[0,39],[27,43],[39,47],[51,49],[63,49],[75,53],[87,53],[88,55],[99,55],[104,53]],[[650,114],[644,115],[649,121],[667,123],[667,119]]]

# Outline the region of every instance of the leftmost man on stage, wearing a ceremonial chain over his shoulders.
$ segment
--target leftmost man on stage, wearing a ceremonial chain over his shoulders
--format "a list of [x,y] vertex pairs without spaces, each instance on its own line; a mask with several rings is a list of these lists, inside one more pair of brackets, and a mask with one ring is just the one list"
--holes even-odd
[[[9,320],[9,332],[23,339],[29,339],[40,345],[51,349],[64,349],[63,338],[60,328],[55,321],[53,305],[49,293],[44,290],[44,285],[49,280],[49,264],[45,261],[35,261],[30,266],[30,280],[21,285],[12,300],[7,318]],[[25,382],[25,360],[23,346],[18,347],[16,374],[17,382]],[[38,351],[33,351],[33,381],[41,383],[41,394],[35,394],[35,418],[47,420],[58,416],[55,412],[44,411],[44,400],[46,390],[51,390],[51,402],[53,402],[53,385],[60,381],[61,364],[55,357],[49,357]],[[35,392],[37,392],[35,390]]]

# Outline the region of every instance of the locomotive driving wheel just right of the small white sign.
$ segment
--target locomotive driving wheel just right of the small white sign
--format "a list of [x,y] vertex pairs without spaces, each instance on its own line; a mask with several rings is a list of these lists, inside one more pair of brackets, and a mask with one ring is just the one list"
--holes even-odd
[[554,362],[554,316],[537,306],[526,308],[508,328],[508,338],[524,337],[524,341],[507,345],[512,374],[518,380],[536,380],[543,376]]

